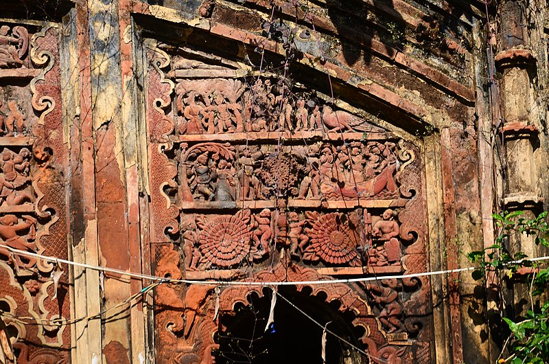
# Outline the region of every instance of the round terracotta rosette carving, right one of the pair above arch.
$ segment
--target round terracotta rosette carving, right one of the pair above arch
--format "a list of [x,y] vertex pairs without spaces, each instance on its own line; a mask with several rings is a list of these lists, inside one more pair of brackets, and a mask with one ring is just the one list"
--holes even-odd
[[303,251],[303,260],[327,264],[360,266],[361,260],[356,247],[358,234],[342,219],[343,214],[320,214],[307,212],[311,227],[305,229],[310,236],[310,244]]

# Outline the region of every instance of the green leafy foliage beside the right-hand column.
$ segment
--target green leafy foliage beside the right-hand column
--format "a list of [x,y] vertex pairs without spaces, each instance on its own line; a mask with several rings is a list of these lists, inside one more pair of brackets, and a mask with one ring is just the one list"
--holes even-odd
[[[549,247],[547,212],[533,219],[522,216],[524,213],[521,211],[493,214],[495,225],[500,227],[501,232],[491,247],[467,254],[467,258],[478,266],[471,275],[474,280],[482,280],[487,272],[499,270],[513,277],[522,267],[533,268],[533,273],[528,277],[530,300],[533,302],[534,297],[537,297],[543,302],[549,293],[548,269],[541,269],[537,263],[527,260],[528,257],[522,252],[511,254],[507,244],[511,235],[525,234],[535,236],[536,244]],[[500,359],[498,363],[549,363],[549,302],[539,306],[536,308],[532,305],[532,309],[528,310],[524,317],[502,317],[511,331],[511,336],[509,356]]]

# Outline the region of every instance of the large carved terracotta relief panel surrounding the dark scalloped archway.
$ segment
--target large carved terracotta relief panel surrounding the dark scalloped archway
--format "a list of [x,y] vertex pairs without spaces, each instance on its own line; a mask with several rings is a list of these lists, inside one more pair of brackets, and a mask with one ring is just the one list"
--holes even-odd
[[[272,282],[290,271],[295,281],[426,271],[417,146],[314,85],[145,45],[156,274]],[[371,354],[430,362],[428,279],[312,289],[356,313],[349,324],[364,328]],[[214,334],[226,330],[216,320],[237,315],[235,304],[248,304],[252,291],[264,297],[253,287],[159,288],[160,362],[212,362]]]

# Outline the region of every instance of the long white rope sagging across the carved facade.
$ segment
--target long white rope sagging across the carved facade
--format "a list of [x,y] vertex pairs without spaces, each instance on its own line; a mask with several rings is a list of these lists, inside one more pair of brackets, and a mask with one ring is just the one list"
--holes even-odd
[[[174,280],[172,278],[159,277],[156,275],[146,275],[141,273],[133,273],[129,271],[122,271],[120,269],[108,268],[107,266],[94,266],[91,264],[84,264],[73,262],[72,260],[53,258],[47,255],[31,253],[30,251],[23,251],[19,249],[14,249],[8,247],[7,245],[0,244],[0,248],[7,249],[8,251],[16,254],[23,255],[32,258],[38,258],[47,260],[49,262],[58,262],[65,263],[73,266],[80,266],[85,269],[93,269],[94,271],[102,271],[105,273],[115,273],[119,275],[126,275],[128,277],[141,278],[143,280],[152,280],[156,282],[165,282],[165,283],[180,283],[180,284],[202,284],[202,285],[211,285],[215,284],[218,286],[293,286],[296,284],[299,285],[313,285],[313,284],[339,284],[339,283],[357,283],[357,282],[371,282],[378,280],[393,280],[393,279],[404,279],[404,278],[414,278],[414,277],[429,277],[431,275],[443,275],[450,273],[460,273],[465,271],[474,271],[478,269],[478,266],[469,266],[467,268],[458,268],[458,269],[447,269],[445,271],[433,271],[433,272],[423,272],[423,273],[412,273],[412,274],[401,274],[401,275],[377,275],[375,277],[359,277],[359,278],[346,278],[346,279],[336,279],[336,280],[318,280],[318,281],[285,281],[285,282],[229,282],[229,281],[216,281],[216,280]],[[522,262],[540,262],[544,260],[549,260],[549,256],[515,260],[507,264],[520,264]]]

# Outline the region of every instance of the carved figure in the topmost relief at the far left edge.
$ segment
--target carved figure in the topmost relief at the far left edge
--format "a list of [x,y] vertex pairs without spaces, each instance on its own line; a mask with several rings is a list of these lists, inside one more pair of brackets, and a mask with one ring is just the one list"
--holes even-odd
[[12,29],[2,25],[0,27],[0,68],[23,67],[21,58],[28,49],[29,34],[25,27],[16,26]]

